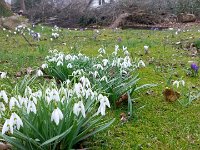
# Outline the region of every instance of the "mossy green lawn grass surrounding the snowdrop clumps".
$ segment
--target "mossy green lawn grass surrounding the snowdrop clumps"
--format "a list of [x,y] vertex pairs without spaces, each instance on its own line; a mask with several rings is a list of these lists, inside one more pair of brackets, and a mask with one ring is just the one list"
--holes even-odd
[[[200,64],[199,56],[191,57],[189,51],[178,48],[178,41],[188,43],[200,37],[199,27],[191,27],[188,32],[175,35],[175,31],[151,30],[100,30],[94,39],[94,31],[63,30],[59,39],[50,41],[51,29],[41,27],[42,41],[37,42],[29,36],[27,38],[35,46],[30,47],[19,35],[9,35],[7,31],[0,31],[0,71],[8,72],[10,78],[16,81],[14,75],[27,67],[40,66],[48,50],[58,49],[64,52],[82,52],[96,56],[98,49],[104,46],[107,54],[114,50],[116,44],[127,46],[131,56],[141,58],[146,68],[139,70],[139,84],[156,83],[152,88],[153,94],[147,95],[146,90],[133,95],[137,99],[134,103],[134,117],[125,124],[120,122],[120,113],[127,112],[126,104],[117,110],[110,110],[107,117],[116,118],[111,128],[95,135],[83,143],[91,149],[199,149],[200,148],[200,101],[196,100],[187,107],[178,101],[169,103],[164,100],[162,91],[167,86],[167,80],[183,78],[186,87],[195,87],[200,92],[200,76],[187,76],[188,61]],[[118,42],[117,39],[122,41]],[[192,38],[190,38],[192,37]],[[62,43],[66,43],[66,46]],[[38,45],[38,46],[37,46]],[[150,46],[150,53],[144,54],[143,46]],[[71,50],[71,47],[72,50]],[[3,84],[4,80],[0,80]],[[3,89],[3,87],[0,87]],[[180,101],[184,98],[181,91]]]

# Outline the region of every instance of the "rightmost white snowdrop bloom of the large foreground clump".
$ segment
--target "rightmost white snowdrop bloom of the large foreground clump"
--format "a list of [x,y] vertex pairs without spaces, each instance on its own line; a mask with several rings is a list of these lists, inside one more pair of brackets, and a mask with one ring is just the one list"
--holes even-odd
[[101,113],[102,116],[104,116],[106,113],[106,106],[110,108],[110,102],[106,96],[103,96],[102,94],[98,95],[98,100],[100,101],[100,106],[97,111],[97,115]]

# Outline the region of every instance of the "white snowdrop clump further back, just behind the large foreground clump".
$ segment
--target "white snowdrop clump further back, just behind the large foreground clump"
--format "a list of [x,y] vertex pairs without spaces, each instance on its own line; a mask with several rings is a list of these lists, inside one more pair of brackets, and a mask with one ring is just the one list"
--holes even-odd
[[134,92],[142,87],[151,86],[136,86],[139,80],[137,69],[145,67],[145,63],[140,59],[133,61],[127,47],[120,48],[115,45],[111,55],[107,55],[104,48],[100,48],[98,52],[97,57],[88,57],[81,53],[64,54],[51,50],[41,68],[47,75],[61,82],[70,79],[73,75],[84,74],[95,85],[94,88],[109,94],[109,99],[114,104],[130,89]]

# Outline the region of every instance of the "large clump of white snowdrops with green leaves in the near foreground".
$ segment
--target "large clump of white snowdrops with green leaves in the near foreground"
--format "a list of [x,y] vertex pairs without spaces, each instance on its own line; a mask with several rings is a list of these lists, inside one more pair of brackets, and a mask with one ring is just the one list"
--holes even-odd
[[0,137],[14,148],[71,149],[114,122],[104,118],[108,98],[94,91],[85,76],[74,75],[59,87],[54,80],[39,88],[21,87],[30,80],[11,93],[0,91]]

